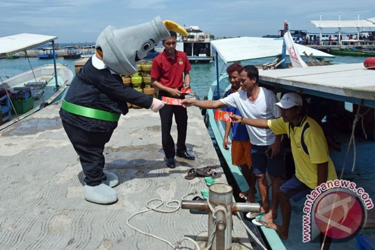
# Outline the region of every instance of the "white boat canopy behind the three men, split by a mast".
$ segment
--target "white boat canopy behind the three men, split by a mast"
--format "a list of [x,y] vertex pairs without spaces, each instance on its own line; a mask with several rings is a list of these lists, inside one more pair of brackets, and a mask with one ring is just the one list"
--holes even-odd
[[[225,63],[233,61],[243,61],[264,57],[274,57],[282,52],[284,40],[264,37],[236,37],[228,39],[220,39],[211,41],[211,45],[225,61]],[[317,49],[309,48],[294,43],[300,55],[304,56],[306,51],[308,55],[311,53],[315,57],[335,57]],[[288,51],[287,51],[288,54]]]

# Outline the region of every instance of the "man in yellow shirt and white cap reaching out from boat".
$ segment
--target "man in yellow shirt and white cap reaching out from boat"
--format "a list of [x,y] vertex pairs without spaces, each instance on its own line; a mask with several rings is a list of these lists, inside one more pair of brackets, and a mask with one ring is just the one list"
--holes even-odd
[[[239,115],[233,115],[232,118],[235,123],[271,129],[276,135],[287,134],[290,139],[296,175],[285,182],[277,194],[280,197],[282,225],[261,222],[267,228],[275,229],[282,239],[287,239],[291,217],[290,199],[299,201],[320,184],[336,180],[337,175],[323,130],[314,119],[306,115],[302,97],[297,93],[287,93],[275,106],[281,108],[281,117],[277,119],[249,119]],[[329,248],[331,239],[326,238],[323,249]]]

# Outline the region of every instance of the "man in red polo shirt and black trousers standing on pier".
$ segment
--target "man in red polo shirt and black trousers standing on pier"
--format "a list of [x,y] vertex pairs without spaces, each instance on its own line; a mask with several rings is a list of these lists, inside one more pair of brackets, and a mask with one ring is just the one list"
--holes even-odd
[[[187,56],[182,51],[176,50],[177,34],[169,31],[171,37],[163,40],[164,51],[157,55],[152,62],[151,84],[159,89],[159,99],[163,96],[184,99],[181,88],[184,85],[182,73],[184,73],[185,87],[190,88],[189,70],[191,66]],[[186,129],[187,111],[186,108],[177,105],[164,105],[159,110],[162,126],[162,145],[166,156],[166,165],[175,168],[174,156],[187,160],[194,160],[195,157],[186,151]],[[177,124],[177,152],[174,150],[174,141],[171,136],[172,117]]]

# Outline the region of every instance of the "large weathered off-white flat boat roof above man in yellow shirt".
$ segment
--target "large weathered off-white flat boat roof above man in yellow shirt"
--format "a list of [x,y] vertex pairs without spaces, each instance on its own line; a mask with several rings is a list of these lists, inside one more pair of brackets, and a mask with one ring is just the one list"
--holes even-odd
[[367,104],[375,105],[375,70],[366,69],[362,63],[260,70],[259,79],[288,89],[371,100]]

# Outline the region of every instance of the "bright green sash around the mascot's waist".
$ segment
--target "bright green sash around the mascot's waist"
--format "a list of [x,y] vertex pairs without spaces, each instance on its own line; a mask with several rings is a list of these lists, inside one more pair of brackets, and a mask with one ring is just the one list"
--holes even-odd
[[67,102],[66,100],[63,100],[63,103],[61,104],[61,108],[72,114],[82,115],[84,117],[90,117],[90,118],[104,120],[104,121],[118,121],[121,115],[121,114],[111,113],[111,112],[103,111],[99,109],[87,108],[84,106],[80,106],[74,103]]

